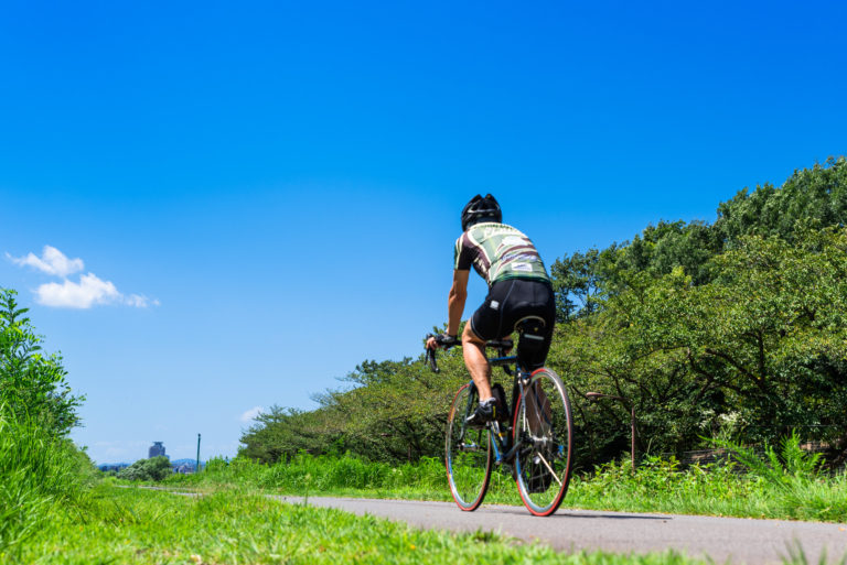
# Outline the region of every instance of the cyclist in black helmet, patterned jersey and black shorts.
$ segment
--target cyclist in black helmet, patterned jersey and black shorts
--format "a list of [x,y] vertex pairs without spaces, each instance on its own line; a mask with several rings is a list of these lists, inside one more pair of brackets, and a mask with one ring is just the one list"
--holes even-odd
[[479,426],[497,419],[497,409],[504,409],[497,406],[492,394],[485,341],[508,337],[518,324],[528,322],[532,329],[525,332],[518,343],[517,356],[528,370],[544,366],[553,339],[556,305],[538,251],[528,237],[503,224],[500,204],[491,194],[471,198],[462,209],[461,219],[463,233],[455,241],[447,332],[430,337],[427,347],[448,349],[459,345],[459,324],[473,265],[489,283],[489,295],[465,324],[461,345],[464,365],[480,395],[480,403],[468,423]]

